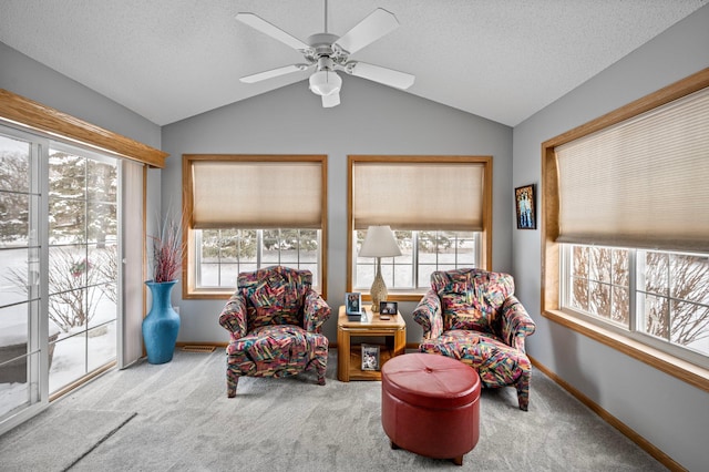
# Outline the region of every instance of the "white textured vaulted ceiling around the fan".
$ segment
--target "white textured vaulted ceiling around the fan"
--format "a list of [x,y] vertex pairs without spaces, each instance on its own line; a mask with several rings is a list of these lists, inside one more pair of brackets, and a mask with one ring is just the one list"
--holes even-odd
[[[391,11],[399,29],[352,59],[414,74],[408,93],[514,126],[707,1],[330,0],[328,30]],[[0,41],[165,125],[308,78],[240,83],[301,57],[237,12],[306,41],[323,31],[323,0],[0,0]]]

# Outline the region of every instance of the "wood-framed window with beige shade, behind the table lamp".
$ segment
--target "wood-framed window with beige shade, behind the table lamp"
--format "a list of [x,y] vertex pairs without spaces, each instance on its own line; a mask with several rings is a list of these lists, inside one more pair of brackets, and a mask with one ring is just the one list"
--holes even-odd
[[358,256],[369,225],[391,226],[402,253],[381,259],[392,299],[418,300],[434,270],[490,267],[492,157],[350,156],[349,165],[349,287],[366,291],[374,279],[376,259]]

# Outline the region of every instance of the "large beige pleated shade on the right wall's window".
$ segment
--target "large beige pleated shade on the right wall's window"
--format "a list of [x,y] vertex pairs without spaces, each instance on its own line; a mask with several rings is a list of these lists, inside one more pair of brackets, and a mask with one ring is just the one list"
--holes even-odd
[[709,252],[709,89],[555,153],[558,242]]

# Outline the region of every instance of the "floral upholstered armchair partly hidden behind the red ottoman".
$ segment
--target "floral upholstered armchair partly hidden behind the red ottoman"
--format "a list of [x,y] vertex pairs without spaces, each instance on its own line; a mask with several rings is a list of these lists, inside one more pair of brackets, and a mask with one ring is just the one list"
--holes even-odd
[[413,319],[423,328],[421,352],[461,360],[477,371],[484,387],[514,386],[520,409],[527,410],[532,365],[524,339],[535,325],[514,296],[511,275],[435,271]]

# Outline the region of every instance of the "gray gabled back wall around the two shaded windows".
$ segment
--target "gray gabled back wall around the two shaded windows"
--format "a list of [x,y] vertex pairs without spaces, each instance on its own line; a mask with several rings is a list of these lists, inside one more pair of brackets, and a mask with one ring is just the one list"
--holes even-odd
[[[492,155],[493,266],[512,264],[512,129],[366,80],[345,76],[341,104],[325,110],[299,82],[242,103],[163,127],[163,150],[184,153],[328,155],[328,304],[342,304],[347,277],[347,155]],[[163,204],[181,204],[182,168],[163,172]],[[454,204],[454,203],[452,203]],[[222,300],[182,300],[179,340],[226,341],[217,325]],[[401,304],[409,342],[421,339],[411,320],[414,304]],[[325,325],[336,339],[337,316]]]

